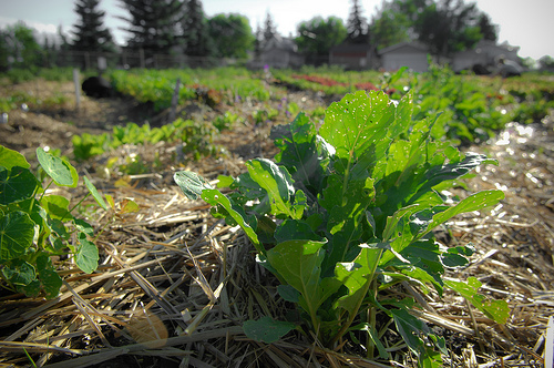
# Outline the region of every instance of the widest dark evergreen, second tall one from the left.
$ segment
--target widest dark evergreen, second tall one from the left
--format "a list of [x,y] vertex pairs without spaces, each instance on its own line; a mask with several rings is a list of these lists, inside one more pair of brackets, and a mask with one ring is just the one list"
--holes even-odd
[[129,23],[124,29],[132,35],[127,47],[147,53],[167,53],[177,43],[177,24],[184,18],[181,0],[121,0],[131,18],[119,17]]

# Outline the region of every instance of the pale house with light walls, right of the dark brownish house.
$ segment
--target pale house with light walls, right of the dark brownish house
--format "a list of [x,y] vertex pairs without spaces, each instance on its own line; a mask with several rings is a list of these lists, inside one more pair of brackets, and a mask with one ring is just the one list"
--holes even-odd
[[419,42],[400,42],[379,51],[381,68],[386,71],[408,67],[416,72],[425,72],[429,68],[429,49]]

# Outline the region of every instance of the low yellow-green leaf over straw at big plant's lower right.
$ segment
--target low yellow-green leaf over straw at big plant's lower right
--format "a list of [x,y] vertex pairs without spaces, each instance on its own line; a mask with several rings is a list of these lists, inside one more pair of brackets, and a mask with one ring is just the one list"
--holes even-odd
[[478,294],[478,289],[482,284],[475,277],[469,277],[468,283],[445,279],[444,285],[460,293],[460,295],[468,299],[475,308],[484,313],[486,317],[495,323],[505,324],[507,321],[510,317],[510,307],[507,303],[505,300],[491,300]]

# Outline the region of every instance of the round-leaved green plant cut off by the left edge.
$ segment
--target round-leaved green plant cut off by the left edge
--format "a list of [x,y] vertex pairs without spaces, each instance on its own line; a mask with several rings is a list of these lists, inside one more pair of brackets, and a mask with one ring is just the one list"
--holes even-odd
[[[71,214],[82,201],[70,208],[68,198],[47,194],[52,184],[75,187],[75,168],[42,149],[37,150],[37,159],[51,178],[45,187],[31,173],[23,155],[0,146],[0,277],[12,290],[37,296],[42,289],[47,298],[54,298],[62,279],[51,256],[69,249],[76,266],[90,274],[98,267],[99,251],[91,241],[92,226]],[[107,209],[94,185],[86,177],[84,183],[99,205]]]

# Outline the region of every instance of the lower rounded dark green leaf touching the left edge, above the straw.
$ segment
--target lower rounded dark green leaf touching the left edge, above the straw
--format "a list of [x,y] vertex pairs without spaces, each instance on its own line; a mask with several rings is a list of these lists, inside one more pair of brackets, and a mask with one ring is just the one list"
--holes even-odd
[[34,238],[34,222],[21,211],[9,212],[0,218],[0,260],[23,255]]

